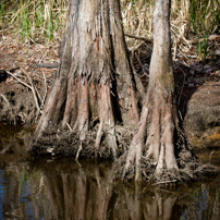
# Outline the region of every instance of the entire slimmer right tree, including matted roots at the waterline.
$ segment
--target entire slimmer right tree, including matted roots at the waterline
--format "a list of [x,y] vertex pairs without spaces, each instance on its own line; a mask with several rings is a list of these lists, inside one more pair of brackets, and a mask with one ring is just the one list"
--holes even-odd
[[179,127],[170,37],[170,0],[156,0],[148,91],[138,130],[118,171],[123,179],[168,183],[193,181],[218,170],[196,162]]

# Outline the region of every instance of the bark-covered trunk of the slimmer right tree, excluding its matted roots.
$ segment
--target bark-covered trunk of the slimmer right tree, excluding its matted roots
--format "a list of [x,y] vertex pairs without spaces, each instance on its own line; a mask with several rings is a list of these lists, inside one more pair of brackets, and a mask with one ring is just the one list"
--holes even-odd
[[135,179],[142,179],[140,159],[154,157],[156,176],[163,169],[178,170],[174,154],[174,130],[178,113],[174,99],[174,77],[170,36],[170,0],[156,0],[154,12],[154,49],[149,70],[148,91],[142,110],[138,131],[134,135],[126,159],[124,175],[135,161]]

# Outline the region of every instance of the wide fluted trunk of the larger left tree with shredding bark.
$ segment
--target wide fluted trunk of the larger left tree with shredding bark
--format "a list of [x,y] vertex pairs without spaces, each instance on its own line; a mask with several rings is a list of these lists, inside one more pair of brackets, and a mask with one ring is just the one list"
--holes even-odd
[[77,131],[83,142],[90,121],[98,118],[95,145],[99,147],[105,135],[117,157],[115,124],[139,120],[119,0],[70,0],[60,60],[36,139],[49,125],[61,124]]

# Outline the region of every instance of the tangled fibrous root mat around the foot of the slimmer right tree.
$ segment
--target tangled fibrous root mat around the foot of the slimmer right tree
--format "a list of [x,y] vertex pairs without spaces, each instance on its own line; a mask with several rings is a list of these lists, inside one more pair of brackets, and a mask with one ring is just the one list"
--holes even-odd
[[[182,142],[182,137],[180,142]],[[180,143],[179,142],[179,143]],[[125,182],[134,181],[136,175],[136,166],[131,163],[126,172],[124,168],[127,161],[129,150],[119,158],[114,163],[114,176],[115,179],[123,179]],[[185,145],[179,145],[179,151],[176,154],[176,162],[179,170],[162,169],[160,174],[156,175],[157,162],[152,157],[147,157],[147,151],[143,154],[140,159],[140,173],[142,181],[152,183],[156,185],[170,185],[190,183],[195,181],[203,181],[207,176],[213,176],[219,173],[219,169],[211,164],[203,164],[197,161],[196,156]]]

